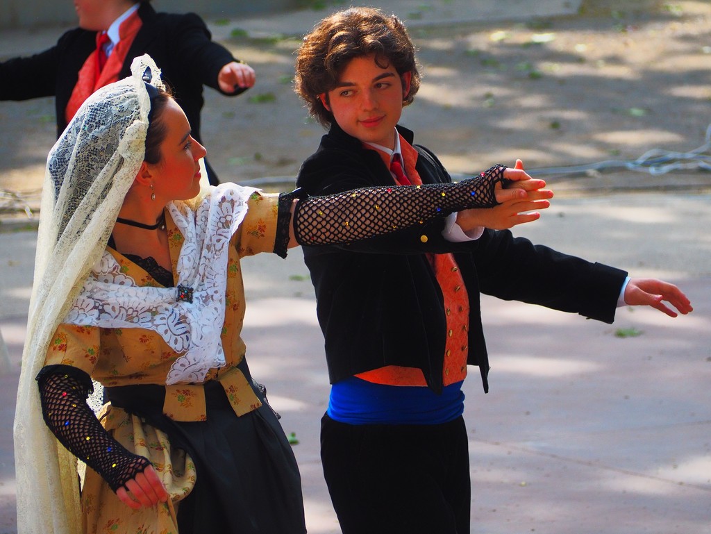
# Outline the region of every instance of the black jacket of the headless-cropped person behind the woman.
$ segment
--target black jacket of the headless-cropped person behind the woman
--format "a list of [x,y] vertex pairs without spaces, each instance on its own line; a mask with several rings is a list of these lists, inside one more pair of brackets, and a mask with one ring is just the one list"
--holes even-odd
[[[176,102],[183,108],[193,130],[202,143],[200,112],[203,108],[203,85],[218,87],[218,73],[235,60],[229,50],[210,41],[210,32],[194,13],[156,13],[147,2],[141,2],[138,14],[143,22],[132,43],[119,80],[131,75],[131,62],[149,54],[161,69],[161,78],[172,88]],[[26,58],[0,63],[0,100],[30,100],[55,97],[57,136],[67,127],[65,109],[77,83],[79,70],[96,49],[96,32],[75,28],[59,38],[57,44]],[[244,92],[238,89],[230,94]],[[207,164],[207,161],[205,161]],[[210,181],[216,175],[208,166]]]

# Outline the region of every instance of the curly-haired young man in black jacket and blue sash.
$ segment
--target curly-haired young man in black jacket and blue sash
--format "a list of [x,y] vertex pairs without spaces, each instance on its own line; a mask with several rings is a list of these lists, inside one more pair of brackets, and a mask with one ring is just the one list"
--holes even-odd
[[[309,195],[451,182],[398,124],[420,76],[395,15],[352,8],[324,18],[299,48],[295,80],[328,128],[296,180]],[[543,195],[533,188],[528,201]],[[692,311],[673,284],[533,245],[513,237],[512,225],[492,220],[474,231],[469,215],[444,234],[439,221],[380,237],[377,250],[367,241],[304,247],[331,380],[321,459],[343,534],[469,534],[461,385],[475,365],[488,391],[480,292],[608,323],[620,305]]]

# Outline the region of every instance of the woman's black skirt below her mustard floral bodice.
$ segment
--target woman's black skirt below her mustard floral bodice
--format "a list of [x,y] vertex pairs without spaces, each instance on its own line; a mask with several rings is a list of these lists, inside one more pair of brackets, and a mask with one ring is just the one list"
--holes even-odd
[[239,365],[262,406],[237,417],[222,385],[205,383],[207,420],[173,421],[163,414],[165,388],[107,388],[112,405],[168,434],[195,462],[193,491],[178,506],[180,534],[303,534],[301,478],[292,447],[246,361]]

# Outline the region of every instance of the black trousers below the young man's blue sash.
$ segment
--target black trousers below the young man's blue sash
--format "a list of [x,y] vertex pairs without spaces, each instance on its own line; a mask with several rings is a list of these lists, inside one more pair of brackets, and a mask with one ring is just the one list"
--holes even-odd
[[321,461],[343,534],[469,534],[462,417],[436,425],[321,420]]

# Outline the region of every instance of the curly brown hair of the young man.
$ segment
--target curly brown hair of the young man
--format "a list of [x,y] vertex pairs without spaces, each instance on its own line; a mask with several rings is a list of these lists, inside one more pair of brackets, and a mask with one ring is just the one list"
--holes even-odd
[[296,55],[294,90],[324,127],[331,125],[333,114],[319,95],[336,88],[338,77],[353,58],[371,54],[380,67],[392,64],[401,80],[405,73],[412,73],[410,92],[402,100],[403,106],[410,105],[419,89],[420,75],[415,45],[397,16],[386,16],[380,9],[352,7],[327,16],[304,37]]

